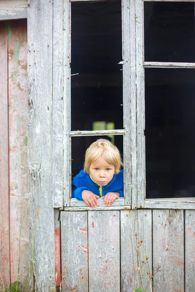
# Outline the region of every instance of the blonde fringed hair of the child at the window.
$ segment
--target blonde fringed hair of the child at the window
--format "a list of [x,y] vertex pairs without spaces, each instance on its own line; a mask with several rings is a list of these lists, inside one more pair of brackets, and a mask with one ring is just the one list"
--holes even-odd
[[98,139],[87,148],[84,171],[89,173],[91,163],[100,157],[104,158],[108,164],[115,166],[115,173],[119,172],[122,165],[120,152],[115,145],[106,139]]

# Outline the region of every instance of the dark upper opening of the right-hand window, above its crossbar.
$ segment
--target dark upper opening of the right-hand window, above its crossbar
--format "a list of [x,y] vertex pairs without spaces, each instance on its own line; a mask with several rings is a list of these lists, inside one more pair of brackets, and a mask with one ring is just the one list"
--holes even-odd
[[195,62],[195,3],[144,2],[145,61]]

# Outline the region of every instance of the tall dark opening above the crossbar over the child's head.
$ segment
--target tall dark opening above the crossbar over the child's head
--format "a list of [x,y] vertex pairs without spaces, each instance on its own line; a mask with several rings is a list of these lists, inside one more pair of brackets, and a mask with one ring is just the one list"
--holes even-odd
[[121,1],[72,3],[71,22],[71,130],[123,128]]

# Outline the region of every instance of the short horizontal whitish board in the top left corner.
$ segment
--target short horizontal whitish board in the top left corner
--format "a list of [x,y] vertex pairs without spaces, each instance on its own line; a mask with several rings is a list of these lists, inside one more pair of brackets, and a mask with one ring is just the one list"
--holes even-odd
[[27,18],[27,0],[0,0],[0,20]]

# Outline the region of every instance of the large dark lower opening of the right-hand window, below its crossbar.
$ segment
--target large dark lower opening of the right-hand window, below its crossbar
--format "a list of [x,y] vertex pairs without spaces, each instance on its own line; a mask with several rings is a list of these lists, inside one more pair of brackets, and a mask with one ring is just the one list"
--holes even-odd
[[146,198],[195,196],[195,70],[145,69]]

